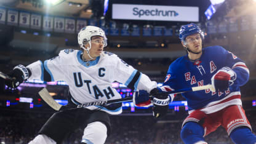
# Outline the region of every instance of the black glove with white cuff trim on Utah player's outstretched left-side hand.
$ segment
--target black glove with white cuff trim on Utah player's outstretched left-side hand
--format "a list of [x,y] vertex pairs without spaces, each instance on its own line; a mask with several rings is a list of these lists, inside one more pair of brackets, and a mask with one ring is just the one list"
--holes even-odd
[[18,87],[25,79],[29,78],[28,69],[23,65],[15,66],[14,70],[12,70],[8,75],[12,79],[6,79],[5,83],[6,86],[10,88]]

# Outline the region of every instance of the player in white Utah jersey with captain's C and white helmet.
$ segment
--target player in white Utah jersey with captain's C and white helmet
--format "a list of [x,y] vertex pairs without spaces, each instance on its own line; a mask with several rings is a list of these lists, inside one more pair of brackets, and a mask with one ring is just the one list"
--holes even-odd
[[105,32],[97,26],[86,26],[78,33],[82,50],[66,49],[57,57],[28,66],[15,66],[9,74],[13,79],[7,86],[17,87],[26,79],[65,81],[70,88],[69,103],[54,113],[39,130],[30,144],[62,143],[74,129],[83,128],[81,143],[104,143],[110,134],[108,114],[122,113],[121,103],[108,106],[76,108],[81,103],[113,100],[121,95],[111,87],[114,81],[133,90],[143,89],[150,93],[156,82],[135,70],[117,55],[104,52]]

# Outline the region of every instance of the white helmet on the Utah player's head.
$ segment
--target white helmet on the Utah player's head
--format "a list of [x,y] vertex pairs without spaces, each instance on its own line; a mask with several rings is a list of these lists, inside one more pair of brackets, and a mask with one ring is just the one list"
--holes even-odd
[[[92,36],[102,36],[104,38],[104,47],[107,46],[107,38],[105,32],[97,26],[86,26],[78,33],[78,44],[82,49],[89,50],[91,47],[90,40]],[[89,43],[90,47],[84,47],[84,44]]]

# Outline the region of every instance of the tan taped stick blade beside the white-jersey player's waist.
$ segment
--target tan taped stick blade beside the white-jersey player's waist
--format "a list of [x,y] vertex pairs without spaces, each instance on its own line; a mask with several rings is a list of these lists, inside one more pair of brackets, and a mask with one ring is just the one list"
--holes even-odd
[[59,103],[57,103],[52,96],[50,96],[48,90],[46,88],[40,90],[39,92],[40,97],[46,102],[50,107],[54,110],[58,111],[62,107]]

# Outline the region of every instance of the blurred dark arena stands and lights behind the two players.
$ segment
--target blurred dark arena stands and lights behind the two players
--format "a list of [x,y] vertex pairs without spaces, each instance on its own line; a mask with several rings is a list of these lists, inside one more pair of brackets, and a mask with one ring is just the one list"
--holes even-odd
[[[242,104],[256,132],[256,1],[255,0],[0,0],[0,71],[47,60],[63,49],[79,49],[77,34],[86,25],[105,30],[106,51],[147,74],[161,86],[170,63],[185,55],[178,39],[181,25],[196,23],[204,31],[204,47],[220,45],[246,62],[250,79],[241,87]],[[0,143],[28,143],[54,113],[38,95],[46,87],[65,105],[63,81],[26,81],[8,89],[0,78]],[[113,82],[122,97],[132,96]],[[123,103],[111,116],[106,143],[182,143],[180,129],[188,116],[181,95],[170,103],[165,118],[154,119],[151,108]],[[78,143],[82,129],[63,143]],[[232,143],[225,129],[206,137],[209,143]]]

